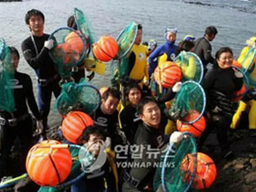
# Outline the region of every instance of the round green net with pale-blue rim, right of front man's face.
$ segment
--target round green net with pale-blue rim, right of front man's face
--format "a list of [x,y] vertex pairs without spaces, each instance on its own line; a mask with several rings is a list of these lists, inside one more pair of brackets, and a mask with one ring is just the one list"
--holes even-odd
[[206,106],[205,92],[194,81],[186,81],[174,97],[169,114],[174,119],[192,124],[203,115]]

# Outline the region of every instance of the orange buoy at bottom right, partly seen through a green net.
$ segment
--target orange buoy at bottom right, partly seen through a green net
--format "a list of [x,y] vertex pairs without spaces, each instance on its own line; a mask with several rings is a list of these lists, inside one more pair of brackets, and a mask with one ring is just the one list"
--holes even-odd
[[[181,162],[180,171],[183,182],[190,182],[193,174],[196,154],[187,154]],[[197,153],[196,174],[192,188],[200,190],[209,188],[216,179],[217,170],[214,161],[204,153]]]

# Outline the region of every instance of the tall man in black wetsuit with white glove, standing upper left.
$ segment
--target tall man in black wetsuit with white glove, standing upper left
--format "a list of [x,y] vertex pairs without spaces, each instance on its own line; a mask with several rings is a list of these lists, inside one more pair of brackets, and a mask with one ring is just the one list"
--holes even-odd
[[48,40],[49,35],[44,34],[44,14],[39,10],[29,10],[25,16],[25,21],[30,28],[31,36],[22,42],[21,48],[24,58],[37,75],[38,103],[44,125],[42,135],[46,137],[52,92],[57,98],[61,91],[58,84],[60,76],[49,55],[49,50],[53,47],[53,40]]

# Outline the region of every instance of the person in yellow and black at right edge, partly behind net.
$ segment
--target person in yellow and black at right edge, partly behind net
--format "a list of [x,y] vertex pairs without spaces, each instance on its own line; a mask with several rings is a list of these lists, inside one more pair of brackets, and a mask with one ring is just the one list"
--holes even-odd
[[[256,45],[256,37],[251,37],[249,40],[246,41],[246,44],[248,46],[242,49],[242,52],[237,60],[240,64],[243,62],[244,58],[246,57],[248,50],[252,46]],[[236,127],[239,124],[242,112],[244,112],[248,106],[250,106],[250,111],[248,114],[250,136],[254,137],[256,136],[256,96],[252,88],[244,96],[244,98],[240,100],[238,109],[236,110],[236,113],[232,118],[232,123],[230,125],[230,128],[233,130],[236,129]]]

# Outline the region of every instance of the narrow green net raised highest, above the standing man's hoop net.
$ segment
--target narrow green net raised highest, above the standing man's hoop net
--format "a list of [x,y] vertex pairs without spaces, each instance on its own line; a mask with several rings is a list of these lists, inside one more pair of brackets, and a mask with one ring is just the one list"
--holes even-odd
[[92,44],[94,44],[94,38],[89,27],[89,22],[84,16],[84,13],[78,8],[74,8],[74,18],[76,20],[78,30],[85,36],[87,44],[92,46]]

